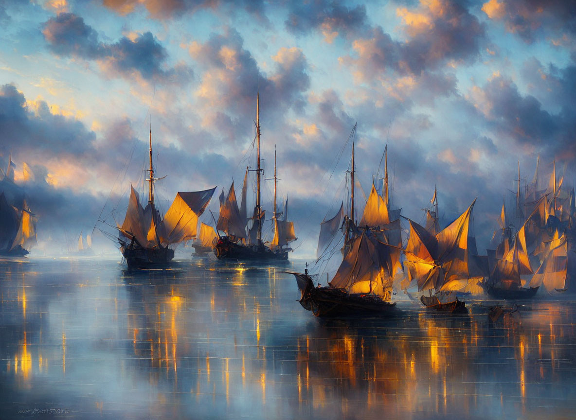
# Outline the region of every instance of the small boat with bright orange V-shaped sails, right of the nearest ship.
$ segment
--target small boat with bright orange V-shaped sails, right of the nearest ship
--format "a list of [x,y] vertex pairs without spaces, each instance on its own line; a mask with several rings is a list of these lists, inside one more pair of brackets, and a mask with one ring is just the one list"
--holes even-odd
[[[476,200],[454,222],[433,235],[408,219],[410,233],[404,249],[408,284],[416,283],[422,304],[442,312],[467,312],[457,291],[473,288],[482,279],[482,267],[475,258],[475,239],[469,234]],[[432,292],[434,291],[434,295]]]

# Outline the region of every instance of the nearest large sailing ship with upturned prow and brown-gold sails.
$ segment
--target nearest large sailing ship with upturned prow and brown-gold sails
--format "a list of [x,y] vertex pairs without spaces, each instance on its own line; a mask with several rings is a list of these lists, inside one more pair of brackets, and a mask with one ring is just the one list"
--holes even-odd
[[[354,137],[354,125],[351,137]],[[386,171],[387,172],[387,171]],[[387,176],[383,198],[374,184],[366,202],[361,222],[354,217],[354,139],[350,173],[350,214],[344,216],[343,203],[331,219],[320,224],[317,262],[323,255],[328,258],[342,255],[343,259],[328,284],[314,285],[312,276],[292,273],[300,289],[300,304],[316,316],[363,316],[392,314],[396,302],[391,301],[393,276],[400,265],[399,246],[392,232],[399,231],[399,219],[390,220],[388,211]],[[342,238],[343,236],[343,238]],[[397,235],[399,237],[399,234]],[[341,253],[334,252],[339,244]],[[401,267],[401,266],[400,266]],[[328,272],[326,272],[328,279]]]

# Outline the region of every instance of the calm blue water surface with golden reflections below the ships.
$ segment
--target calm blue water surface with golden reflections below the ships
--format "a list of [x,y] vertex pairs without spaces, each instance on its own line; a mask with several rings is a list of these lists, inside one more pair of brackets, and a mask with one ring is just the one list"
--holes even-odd
[[275,266],[0,261],[0,418],[573,418],[575,303],[319,320]]

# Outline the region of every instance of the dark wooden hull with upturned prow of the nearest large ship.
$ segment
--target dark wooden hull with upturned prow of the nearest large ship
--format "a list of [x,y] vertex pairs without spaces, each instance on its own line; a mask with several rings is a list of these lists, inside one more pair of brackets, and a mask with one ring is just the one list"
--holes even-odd
[[344,289],[315,287],[308,274],[292,274],[302,293],[300,304],[315,316],[390,316],[397,311],[396,302],[385,301],[378,296],[351,295]]

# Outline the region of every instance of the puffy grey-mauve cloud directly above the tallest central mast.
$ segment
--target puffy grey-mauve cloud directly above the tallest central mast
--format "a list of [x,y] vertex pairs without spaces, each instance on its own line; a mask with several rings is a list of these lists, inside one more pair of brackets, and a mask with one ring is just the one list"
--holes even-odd
[[263,127],[282,120],[288,110],[302,112],[310,78],[308,60],[301,49],[279,49],[271,57],[272,71],[265,74],[232,28],[212,34],[203,44],[195,41],[183,47],[202,70],[195,92],[202,108],[198,110],[203,116],[202,125],[221,130],[230,142],[238,141],[238,133],[252,133],[257,91]]

